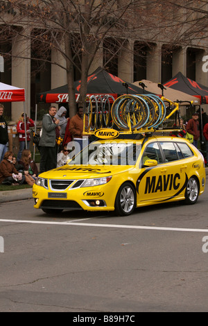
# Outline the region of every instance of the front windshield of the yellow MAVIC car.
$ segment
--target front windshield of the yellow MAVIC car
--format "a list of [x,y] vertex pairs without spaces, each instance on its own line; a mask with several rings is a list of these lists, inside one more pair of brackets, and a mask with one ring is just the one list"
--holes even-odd
[[140,152],[141,144],[96,141],[73,157],[69,164],[135,165]]

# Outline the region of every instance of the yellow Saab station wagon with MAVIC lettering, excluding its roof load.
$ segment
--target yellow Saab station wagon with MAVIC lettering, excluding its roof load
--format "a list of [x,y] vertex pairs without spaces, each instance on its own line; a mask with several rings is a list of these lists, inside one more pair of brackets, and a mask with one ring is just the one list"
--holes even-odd
[[49,214],[79,207],[125,216],[157,203],[195,204],[205,191],[198,149],[179,137],[140,138],[94,141],[69,164],[40,174],[34,207]]

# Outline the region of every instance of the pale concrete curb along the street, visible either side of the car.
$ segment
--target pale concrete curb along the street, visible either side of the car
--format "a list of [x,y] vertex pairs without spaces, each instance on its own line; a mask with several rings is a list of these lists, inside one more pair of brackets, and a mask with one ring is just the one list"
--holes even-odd
[[[206,175],[208,175],[208,168],[206,168],[205,171],[206,171]],[[31,198],[33,198],[32,188],[0,191],[0,204],[8,203],[16,200],[26,200]]]

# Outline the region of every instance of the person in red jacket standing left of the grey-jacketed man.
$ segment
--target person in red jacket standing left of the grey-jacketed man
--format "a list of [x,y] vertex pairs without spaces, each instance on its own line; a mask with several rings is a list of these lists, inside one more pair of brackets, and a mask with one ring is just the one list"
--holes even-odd
[[17,122],[17,133],[19,135],[19,153],[17,154],[17,161],[21,160],[21,153],[26,148],[26,137],[27,137],[27,148],[29,148],[31,141],[31,127],[34,127],[35,123],[32,119],[29,119],[26,114],[26,135],[24,128],[24,113],[21,114],[19,121]]

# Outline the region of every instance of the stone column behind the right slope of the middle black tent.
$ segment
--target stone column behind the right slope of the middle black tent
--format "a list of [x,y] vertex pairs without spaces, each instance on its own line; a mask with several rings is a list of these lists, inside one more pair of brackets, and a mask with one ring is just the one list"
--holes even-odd
[[118,77],[128,83],[134,82],[134,41],[128,40],[119,55]]

